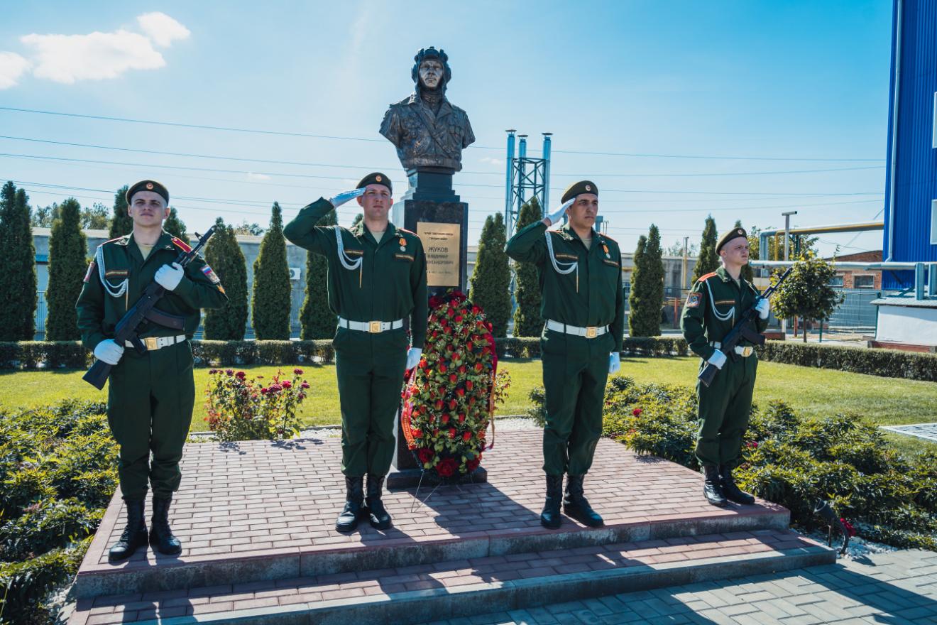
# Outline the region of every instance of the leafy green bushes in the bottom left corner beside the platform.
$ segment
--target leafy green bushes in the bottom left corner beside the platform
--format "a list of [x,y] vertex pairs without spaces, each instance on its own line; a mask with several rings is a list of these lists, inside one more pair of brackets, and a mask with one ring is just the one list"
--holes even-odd
[[117,486],[103,403],[0,411],[0,622],[52,618]]

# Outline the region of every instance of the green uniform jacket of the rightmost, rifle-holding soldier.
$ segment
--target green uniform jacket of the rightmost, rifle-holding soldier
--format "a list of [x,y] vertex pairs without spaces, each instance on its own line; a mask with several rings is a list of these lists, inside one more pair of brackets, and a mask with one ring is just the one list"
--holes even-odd
[[[758,295],[758,290],[751,282],[739,278],[736,284],[724,267],[700,276],[687,295],[680,317],[680,329],[693,353],[703,360],[709,360],[716,350],[709,342],[721,342],[742,313],[755,304]],[[755,327],[758,332],[765,332],[767,320],[757,319]],[[742,339],[739,345],[744,347],[752,344]]]

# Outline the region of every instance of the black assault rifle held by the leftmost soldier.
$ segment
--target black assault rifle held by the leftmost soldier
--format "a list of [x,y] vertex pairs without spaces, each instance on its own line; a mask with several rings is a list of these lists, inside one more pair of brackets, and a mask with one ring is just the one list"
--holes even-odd
[[[208,240],[212,238],[213,234],[215,234],[215,226],[212,226],[208,231],[202,234],[201,237],[199,237],[199,243],[189,251],[179,252],[179,256],[176,257],[175,262],[178,262],[185,268],[189,262],[198,256],[199,250],[208,243]],[[196,232],[196,236],[199,236],[198,232]],[[142,355],[146,353],[146,346],[143,345],[143,340],[146,339],[141,340],[140,336],[137,335],[137,328],[143,320],[150,320],[172,328],[173,330],[182,330],[185,327],[185,319],[183,317],[170,315],[169,313],[164,313],[156,309],[156,303],[162,299],[165,294],[166,290],[163,289],[159,283],[155,280],[151,282],[150,285],[146,287],[146,290],[143,291],[143,294],[140,296],[140,299],[137,300],[136,304],[132,305],[130,309],[124,313],[124,317],[117,322],[116,327],[114,327],[114,342],[124,347],[126,341],[130,341],[133,348]],[[91,365],[91,368],[82,376],[82,379],[97,388],[97,390],[101,390],[104,388],[104,382],[106,382],[108,376],[111,375],[111,367],[112,365],[108,365],[102,360],[95,361],[95,364]]]

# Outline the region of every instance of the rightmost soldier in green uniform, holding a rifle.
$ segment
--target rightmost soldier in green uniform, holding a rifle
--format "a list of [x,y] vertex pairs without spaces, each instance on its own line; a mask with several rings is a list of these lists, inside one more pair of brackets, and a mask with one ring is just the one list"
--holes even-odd
[[749,425],[751,393],[755,386],[758,357],[753,346],[742,341],[735,358],[720,350],[722,337],[732,330],[742,313],[757,305],[758,332],[767,327],[769,305],[758,290],[741,276],[749,261],[748,235],[742,228],[725,232],[716,244],[722,266],[700,276],[683,306],[680,328],[693,353],[720,371],[706,387],[697,381],[699,428],[696,432],[696,457],[703,466],[706,482],[703,494],[714,506],[724,507],[727,499],[741,504],[754,503],[742,492],[732,477],[742,448],[742,436]]

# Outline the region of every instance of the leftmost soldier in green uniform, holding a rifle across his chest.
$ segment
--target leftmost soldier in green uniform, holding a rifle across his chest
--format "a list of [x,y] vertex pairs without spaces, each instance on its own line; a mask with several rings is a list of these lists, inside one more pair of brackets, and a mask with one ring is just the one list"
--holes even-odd
[[[113,365],[108,423],[120,446],[118,475],[127,520],[109,553],[112,561],[129,558],[147,537],[160,553],[182,551],[172,535],[169,510],[182,479],[179,460],[195,402],[188,341],[199,328],[201,308],[228,301],[204,260],[197,258],[185,269],[174,262],[191,247],[162,229],[170,215],[165,186],[141,180],[127,189],[126,201],[133,231],[97,246],[76,304],[82,343],[98,360]],[[114,326],[154,280],[168,291],[156,305],[165,324],[143,321],[139,335],[146,352],[125,351],[130,344],[114,342]],[[153,488],[149,534],[143,520],[148,484]]]

